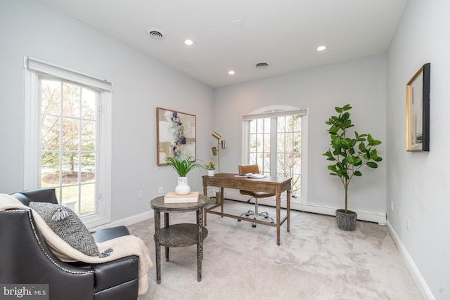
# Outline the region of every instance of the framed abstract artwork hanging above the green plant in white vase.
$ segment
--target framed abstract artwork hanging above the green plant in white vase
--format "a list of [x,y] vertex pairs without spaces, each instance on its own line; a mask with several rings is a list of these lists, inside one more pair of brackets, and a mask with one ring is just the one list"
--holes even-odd
[[195,115],[156,107],[156,130],[158,166],[167,164],[166,157],[196,160]]

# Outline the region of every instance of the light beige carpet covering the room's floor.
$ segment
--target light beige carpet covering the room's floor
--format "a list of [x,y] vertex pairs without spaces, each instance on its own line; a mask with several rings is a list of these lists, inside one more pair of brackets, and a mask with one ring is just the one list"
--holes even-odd
[[[251,208],[225,202],[226,213]],[[275,216],[273,207],[262,208]],[[194,212],[169,216],[171,224],[195,223]],[[291,211],[290,233],[283,224],[280,246],[270,226],[252,228],[249,222],[208,214],[207,229],[202,281],[197,281],[195,245],[170,248],[170,261],[162,247],[158,285],[154,220],[129,226],[146,241],[154,262],[150,287],[139,300],[422,299],[385,226],[358,221],[355,231],[346,232],[333,216]]]

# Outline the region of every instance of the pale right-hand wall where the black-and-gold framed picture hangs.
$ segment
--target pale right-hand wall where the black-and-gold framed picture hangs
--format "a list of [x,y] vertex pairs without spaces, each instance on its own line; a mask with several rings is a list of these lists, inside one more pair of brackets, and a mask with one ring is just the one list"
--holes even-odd
[[[435,299],[450,299],[449,13],[449,1],[410,0],[387,54],[388,225],[424,294]],[[406,83],[425,63],[430,152],[406,152]]]

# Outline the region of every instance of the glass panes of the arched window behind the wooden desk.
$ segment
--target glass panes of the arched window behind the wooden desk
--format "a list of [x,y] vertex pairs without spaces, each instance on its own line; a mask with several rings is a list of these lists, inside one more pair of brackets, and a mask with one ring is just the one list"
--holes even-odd
[[[266,176],[293,178],[293,197],[305,198],[307,110],[262,110],[243,116],[246,164]],[[305,199],[304,199],[305,200]]]

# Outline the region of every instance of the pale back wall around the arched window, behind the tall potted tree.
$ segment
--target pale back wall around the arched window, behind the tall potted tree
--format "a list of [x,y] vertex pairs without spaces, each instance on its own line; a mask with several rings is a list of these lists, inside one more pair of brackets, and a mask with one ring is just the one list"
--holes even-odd
[[[329,176],[328,161],[321,154],[330,141],[325,124],[335,115],[335,106],[352,104],[354,129],[371,133],[386,151],[386,58],[373,56],[336,65],[285,74],[214,90],[214,130],[227,141],[221,151],[221,171],[236,172],[241,163],[241,116],[269,105],[309,108],[308,203],[334,209],[344,206],[344,189],[338,178]],[[213,138],[210,141],[214,143]],[[385,216],[386,164],[363,170],[349,187],[349,208]]]

